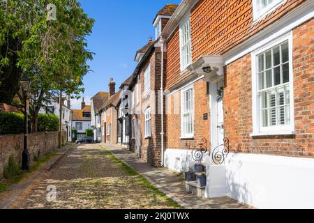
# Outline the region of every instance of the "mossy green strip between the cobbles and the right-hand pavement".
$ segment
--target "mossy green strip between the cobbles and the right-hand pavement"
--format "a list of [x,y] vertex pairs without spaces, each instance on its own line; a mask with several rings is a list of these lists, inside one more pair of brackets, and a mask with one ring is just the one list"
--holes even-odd
[[173,201],[172,199],[167,197],[163,192],[160,192],[160,190],[158,190],[156,187],[154,187],[154,185],[149,183],[149,181],[146,178],[144,178],[144,176],[140,175],[135,169],[133,169],[132,167],[128,166],[128,164],[120,160],[116,155],[114,155],[114,153],[112,153],[111,151],[108,151],[103,146],[101,146],[101,148],[102,148],[102,151],[105,153],[105,155],[107,155],[110,158],[110,160],[114,162],[114,164],[117,164],[120,167],[123,167],[128,173],[128,175],[138,176],[140,178],[140,182],[142,183],[142,185],[144,185],[144,187],[146,187],[147,189],[151,190],[151,192],[154,193],[154,196],[159,196],[160,198],[165,199],[165,201],[167,201],[169,205],[172,206],[172,208],[177,208],[177,209],[181,208],[181,206],[179,206],[179,204],[176,201]]

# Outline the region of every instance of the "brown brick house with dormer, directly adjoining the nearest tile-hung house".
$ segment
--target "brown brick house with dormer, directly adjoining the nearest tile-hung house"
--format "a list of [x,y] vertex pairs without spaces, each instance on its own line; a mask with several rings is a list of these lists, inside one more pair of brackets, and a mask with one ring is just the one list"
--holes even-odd
[[129,86],[130,110],[133,114],[130,147],[142,160],[154,167],[163,165],[162,153],[166,139],[163,131],[165,119],[162,121],[160,113],[160,102],[164,102],[161,98],[166,58],[165,52],[161,50],[160,34],[176,9],[177,5],[167,4],[157,13],[153,22],[156,40],[150,38],[149,43],[136,52],[135,61],[138,65]]

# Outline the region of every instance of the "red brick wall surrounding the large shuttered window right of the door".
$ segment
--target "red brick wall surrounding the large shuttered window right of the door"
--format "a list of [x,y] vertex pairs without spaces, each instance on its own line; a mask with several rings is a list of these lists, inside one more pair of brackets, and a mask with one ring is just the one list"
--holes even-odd
[[251,137],[251,54],[226,67],[225,136],[233,152],[314,157],[313,26],[311,20],[293,31],[295,135]]

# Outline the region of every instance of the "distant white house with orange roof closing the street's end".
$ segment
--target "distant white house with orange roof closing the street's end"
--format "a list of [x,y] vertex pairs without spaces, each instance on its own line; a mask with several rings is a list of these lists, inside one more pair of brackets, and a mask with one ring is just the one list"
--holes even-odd
[[91,128],[91,105],[86,105],[84,98],[82,109],[73,109],[72,126],[77,130],[77,139],[86,136],[86,130]]

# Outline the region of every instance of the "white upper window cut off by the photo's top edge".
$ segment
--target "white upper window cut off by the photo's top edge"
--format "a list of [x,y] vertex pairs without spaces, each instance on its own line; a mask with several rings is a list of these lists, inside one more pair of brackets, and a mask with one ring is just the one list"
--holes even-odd
[[253,0],[254,20],[258,20],[267,15],[272,10],[283,3],[284,0]]

